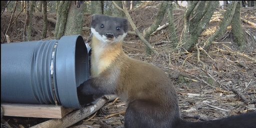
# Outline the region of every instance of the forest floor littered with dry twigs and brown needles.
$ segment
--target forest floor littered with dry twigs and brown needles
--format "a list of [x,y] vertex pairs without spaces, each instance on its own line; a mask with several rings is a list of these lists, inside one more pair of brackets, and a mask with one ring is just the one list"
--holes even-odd
[[[140,32],[154,21],[158,3],[151,2],[129,11]],[[215,31],[221,22],[220,17],[223,16],[223,12],[220,8],[216,9],[208,27],[203,31],[198,41],[206,40]],[[180,39],[183,29],[183,14],[184,8],[173,10],[178,39]],[[16,15],[17,13],[14,14],[14,17]],[[4,12],[1,15],[1,41],[8,27],[10,16],[11,12]],[[47,16],[56,19],[54,13]],[[241,17],[256,23],[256,8],[241,8]],[[42,13],[33,14],[32,40],[40,40],[42,19]],[[90,14],[84,14],[84,27],[89,27],[89,19]],[[16,21],[11,24],[9,33],[7,33],[11,42],[21,42],[24,21],[25,14],[21,13]],[[168,19],[165,15],[161,25],[167,22]],[[246,48],[238,50],[237,44],[232,41],[231,27],[228,26],[224,34],[214,40],[220,43],[211,44],[205,52],[200,50],[200,60],[205,64],[205,69],[202,69],[202,65],[197,63],[195,48],[186,53],[181,53],[180,48],[172,48],[172,43],[164,43],[164,41],[169,41],[167,38],[168,27],[150,36],[151,45],[160,53],[158,56],[145,57],[144,44],[136,35],[127,35],[124,38],[123,50],[131,58],[160,67],[173,81],[178,97],[180,115],[183,120],[192,122],[215,120],[256,110],[256,27],[243,21],[242,27],[247,42]],[[132,31],[132,28],[130,27],[129,30]],[[49,22],[46,39],[53,39],[53,32],[54,24]],[[82,37],[88,39],[89,31],[83,31]],[[236,91],[245,99],[242,100]],[[246,102],[248,105],[246,105]],[[111,106],[108,106],[109,104],[111,103],[104,105],[89,121],[85,120],[91,116],[70,128],[97,128],[102,123],[107,128],[121,126],[124,117],[122,112],[126,109],[125,103],[118,99]],[[117,115],[105,118],[110,114]],[[200,118],[197,119],[196,116]],[[49,120],[5,116],[3,119],[7,121],[11,128],[28,128]],[[2,124],[2,128],[8,127],[6,124]]]

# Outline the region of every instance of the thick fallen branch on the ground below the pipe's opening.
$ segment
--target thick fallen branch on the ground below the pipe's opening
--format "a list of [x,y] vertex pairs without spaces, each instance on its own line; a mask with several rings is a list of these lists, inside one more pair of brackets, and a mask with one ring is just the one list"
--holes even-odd
[[97,103],[87,106],[85,108],[79,109],[75,112],[72,112],[72,113],[64,116],[62,119],[48,120],[46,122],[40,123],[40,124],[30,127],[30,128],[67,128],[67,127],[83,120],[84,118],[90,116],[91,114],[95,113],[106,102],[112,101],[116,98],[116,96],[114,96],[114,95],[107,95],[104,97],[105,98],[100,98]]

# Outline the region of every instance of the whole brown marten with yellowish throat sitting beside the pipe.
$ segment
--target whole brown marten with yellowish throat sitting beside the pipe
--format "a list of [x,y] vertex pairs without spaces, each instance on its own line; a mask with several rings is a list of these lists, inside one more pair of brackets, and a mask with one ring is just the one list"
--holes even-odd
[[93,14],[90,23],[92,77],[77,88],[81,104],[87,95],[117,95],[127,104],[124,128],[256,128],[255,112],[209,122],[182,121],[172,81],[160,68],[122,51],[127,19]]

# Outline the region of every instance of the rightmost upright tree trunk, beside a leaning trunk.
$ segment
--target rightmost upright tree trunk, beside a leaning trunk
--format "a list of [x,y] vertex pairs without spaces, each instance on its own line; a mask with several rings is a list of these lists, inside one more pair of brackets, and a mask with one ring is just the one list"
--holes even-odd
[[244,35],[243,35],[243,29],[241,26],[241,14],[240,14],[240,7],[241,6],[241,1],[238,1],[234,15],[231,21],[231,31],[233,33],[233,41],[237,42],[239,48],[244,48],[245,46],[245,40],[244,40]]

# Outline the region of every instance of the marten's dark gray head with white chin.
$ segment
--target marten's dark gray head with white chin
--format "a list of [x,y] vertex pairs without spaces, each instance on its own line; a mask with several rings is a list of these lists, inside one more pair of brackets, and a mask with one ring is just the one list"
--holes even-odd
[[128,32],[128,20],[101,14],[91,15],[90,30],[93,35],[104,43],[116,43]]

